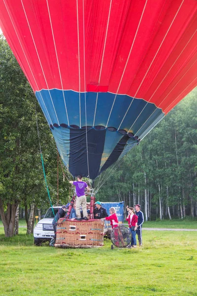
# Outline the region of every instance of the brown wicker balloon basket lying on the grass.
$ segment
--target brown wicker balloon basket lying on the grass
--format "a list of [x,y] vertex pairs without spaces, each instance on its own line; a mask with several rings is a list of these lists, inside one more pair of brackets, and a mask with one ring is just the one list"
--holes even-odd
[[103,246],[104,222],[100,220],[58,221],[56,243],[58,248],[95,248]]

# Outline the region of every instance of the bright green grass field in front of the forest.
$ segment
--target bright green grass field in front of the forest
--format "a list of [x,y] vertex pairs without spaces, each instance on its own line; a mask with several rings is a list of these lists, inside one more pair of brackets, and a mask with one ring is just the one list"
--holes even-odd
[[35,247],[19,230],[5,238],[0,227],[0,296],[197,296],[197,232],[144,230],[142,248],[106,239],[80,250]]

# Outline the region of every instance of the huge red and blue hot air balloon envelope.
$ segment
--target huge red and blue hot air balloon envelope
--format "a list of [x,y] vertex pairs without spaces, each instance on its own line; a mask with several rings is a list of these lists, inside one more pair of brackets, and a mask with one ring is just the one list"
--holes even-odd
[[197,85],[196,0],[0,0],[72,174],[95,180]]

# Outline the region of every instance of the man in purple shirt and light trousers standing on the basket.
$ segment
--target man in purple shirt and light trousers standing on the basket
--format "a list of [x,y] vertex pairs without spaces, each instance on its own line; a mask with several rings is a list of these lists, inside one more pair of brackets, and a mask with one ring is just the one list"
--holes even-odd
[[88,220],[87,208],[86,208],[86,196],[85,189],[89,191],[89,187],[86,182],[82,181],[82,176],[77,176],[77,181],[69,181],[70,184],[75,185],[76,189],[76,220],[81,220],[80,206],[82,207],[84,220]]

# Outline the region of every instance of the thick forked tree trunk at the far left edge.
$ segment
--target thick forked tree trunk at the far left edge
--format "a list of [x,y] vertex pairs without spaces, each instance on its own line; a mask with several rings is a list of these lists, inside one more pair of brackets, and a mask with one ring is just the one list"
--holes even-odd
[[0,218],[4,226],[5,237],[14,235],[14,222],[18,203],[7,203],[6,212],[4,212],[4,205],[0,198]]

